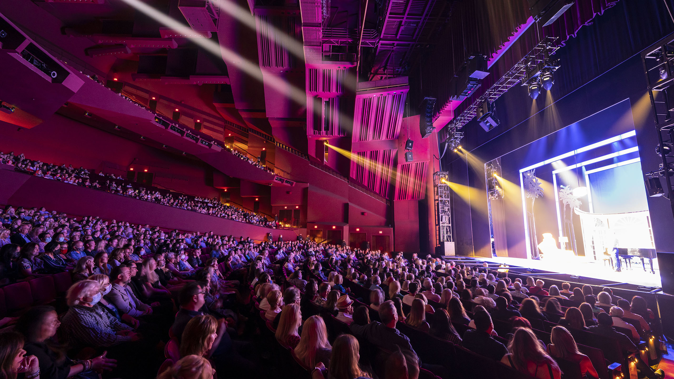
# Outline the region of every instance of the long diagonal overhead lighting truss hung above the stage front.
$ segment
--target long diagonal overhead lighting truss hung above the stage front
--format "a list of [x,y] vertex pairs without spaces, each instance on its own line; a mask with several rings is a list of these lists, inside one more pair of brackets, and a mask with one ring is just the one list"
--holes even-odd
[[474,100],[460,115],[457,115],[442,130],[441,142],[445,142],[452,133],[461,129],[477,115],[477,109],[485,101],[493,103],[502,94],[516,84],[526,82],[532,78],[532,68],[545,66],[545,60],[559,49],[554,45],[556,38],[545,37],[531,51],[529,51],[520,61],[508,70],[501,78],[485,91],[479,98]]

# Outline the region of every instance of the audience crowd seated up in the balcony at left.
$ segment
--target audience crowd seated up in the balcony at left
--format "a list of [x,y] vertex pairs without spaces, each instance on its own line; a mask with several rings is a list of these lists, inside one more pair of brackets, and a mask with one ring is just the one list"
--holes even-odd
[[206,199],[195,196],[187,196],[177,192],[159,190],[148,190],[137,183],[123,180],[122,177],[116,177],[114,174],[104,174],[100,171],[98,174],[90,173],[84,167],[73,168],[72,165],[52,165],[33,161],[24,156],[24,154],[14,155],[13,152],[7,154],[0,152],[0,163],[13,165],[16,170],[24,173],[30,173],[39,177],[62,181],[63,183],[82,185],[88,188],[105,190],[113,194],[128,196],[148,202],[155,202],[175,208],[192,210],[204,214],[210,214],[221,218],[241,221],[263,227],[276,227],[277,223],[268,220],[264,214],[255,214],[243,208],[222,204],[220,200]]

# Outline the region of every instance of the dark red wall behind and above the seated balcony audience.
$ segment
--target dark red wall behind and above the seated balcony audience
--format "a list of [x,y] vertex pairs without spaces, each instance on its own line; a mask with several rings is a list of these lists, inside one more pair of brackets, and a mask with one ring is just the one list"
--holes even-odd
[[148,169],[154,183],[169,190],[213,198],[219,190],[206,185],[204,163],[168,154],[61,115],[53,115],[32,129],[0,121],[0,150],[24,153],[27,158],[99,171],[104,163],[119,169],[104,172],[125,177],[126,168]]

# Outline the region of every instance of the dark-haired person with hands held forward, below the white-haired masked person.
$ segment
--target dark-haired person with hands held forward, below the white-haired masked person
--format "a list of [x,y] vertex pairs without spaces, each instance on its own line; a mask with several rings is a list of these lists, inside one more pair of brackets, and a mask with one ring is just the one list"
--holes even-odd
[[24,337],[24,350],[38,359],[40,378],[65,379],[78,374],[91,378],[98,376],[96,371],[110,371],[117,366],[115,359],[106,357],[107,352],[82,363],[65,359],[63,347],[51,339],[60,325],[56,310],[48,305],[30,308],[16,323],[16,331]]

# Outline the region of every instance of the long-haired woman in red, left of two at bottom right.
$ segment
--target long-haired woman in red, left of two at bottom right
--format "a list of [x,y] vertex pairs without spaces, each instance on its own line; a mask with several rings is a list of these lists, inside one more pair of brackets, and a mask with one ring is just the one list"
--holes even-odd
[[541,343],[530,329],[519,328],[515,331],[510,344],[510,353],[503,356],[501,362],[519,372],[539,379],[560,379],[561,370],[555,359],[547,355]]

